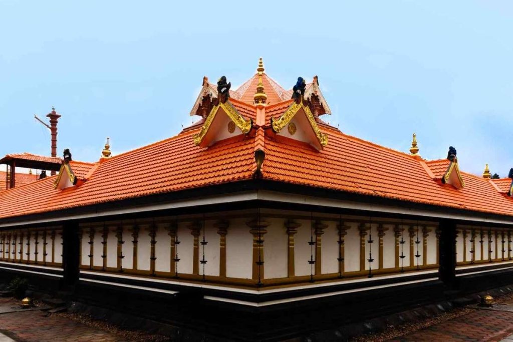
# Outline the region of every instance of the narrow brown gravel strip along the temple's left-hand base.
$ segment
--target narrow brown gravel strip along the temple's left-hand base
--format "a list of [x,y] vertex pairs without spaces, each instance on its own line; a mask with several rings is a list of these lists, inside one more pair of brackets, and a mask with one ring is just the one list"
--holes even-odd
[[86,314],[63,312],[63,313],[54,313],[54,315],[66,317],[68,319],[82,323],[91,328],[102,329],[102,330],[111,332],[113,334],[116,334],[116,335],[119,335],[119,336],[125,338],[127,341],[133,341],[133,342],[168,342],[168,341],[171,341],[170,337],[163,336],[163,335],[154,335],[154,334],[145,333],[143,331],[121,329],[113,324],[107,323],[106,321],[93,319],[89,315],[86,315]]

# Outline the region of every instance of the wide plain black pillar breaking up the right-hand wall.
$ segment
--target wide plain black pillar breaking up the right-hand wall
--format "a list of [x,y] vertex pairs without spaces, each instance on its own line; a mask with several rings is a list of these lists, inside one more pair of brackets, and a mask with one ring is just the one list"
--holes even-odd
[[439,276],[446,285],[452,286],[456,281],[456,222],[451,219],[442,219],[439,229]]

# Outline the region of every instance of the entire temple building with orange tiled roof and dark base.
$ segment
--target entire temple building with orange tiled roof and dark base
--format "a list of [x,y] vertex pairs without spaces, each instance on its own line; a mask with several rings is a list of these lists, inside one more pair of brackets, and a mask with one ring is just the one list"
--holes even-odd
[[0,272],[241,340],[511,283],[513,169],[347,135],[317,76],[290,85],[261,58],[237,89],[204,77],[176,136],[118,155],[107,141],[93,163],[69,146],[55,175],[0,192]]

